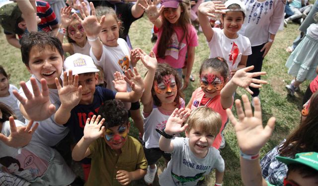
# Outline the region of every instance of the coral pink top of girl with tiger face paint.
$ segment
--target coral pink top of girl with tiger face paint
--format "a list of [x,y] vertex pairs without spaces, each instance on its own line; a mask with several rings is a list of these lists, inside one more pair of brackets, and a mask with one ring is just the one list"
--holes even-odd
[[[202,91],[201,87],[197,88],[192,93],[191,99],[193,100],[193,102],[191,105],[191,110],[193,110],[199,106],[206,106],[206,107],[213,109],[213,111],[215,111],[221,115],[221,118],[222,118],[221,130],[218,133],[218,135],[215,137],[215,140],[212,144],[213,147],[215,147],[216,149],[219,149],[220,145],[221,145],[221,141],[222,141],[221,131],[223,130],[224,125],[228,120],[228,115],[226,113],[226,110],[223,109],[223,107],[222,107],[221,95],[218,95],[218,96],[212,98],[211,100],[209,98],[203,98],[203,96],[204,96],[204,92]],[[230,107],[230,109],[231,108],[232,108],[232,106]]]

